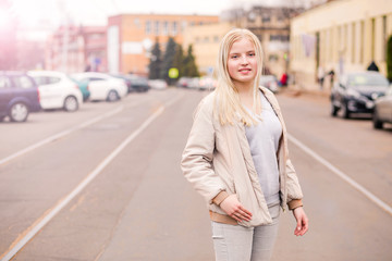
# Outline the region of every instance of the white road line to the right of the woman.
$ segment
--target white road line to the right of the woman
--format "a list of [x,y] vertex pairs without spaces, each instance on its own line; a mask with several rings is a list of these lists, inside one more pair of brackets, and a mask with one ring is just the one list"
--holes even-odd
[[382,210],[384,210],[387,213],[392,215],[392,208],[387,204],[384,201],[376,197],[372,192],[364,188],[362,185],[359,185],[357,182],[355,182],[353,178],[344,174],[342,171],[340,171],[338,167],[329,163],[327,160],[324,160],[322,157],[317,154],[315,151],[313,151],[310,148],[305,146],[303,142],[301,142],[298,139],[294,138],[290,134],[287,135],[289,140],[295,144],[297,147],[299,147],[302,150],[304,150],[306,153],[308,153],[310,157],[313,157],[315,160],[320,162],[322,165],[324,165],[327,169],[332,171],[334,174],[336,174],[340,178],[348,183],[352,187],[357,189],[359,192],[364,194],[365,197],[370,199],[372,202],[375,202],[378,207],[380,207]]

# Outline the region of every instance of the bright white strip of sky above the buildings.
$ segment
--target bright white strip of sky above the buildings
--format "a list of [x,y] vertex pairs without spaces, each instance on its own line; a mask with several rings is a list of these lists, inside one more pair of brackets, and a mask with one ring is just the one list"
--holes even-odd
[[119,13],[210,14],[237,7],[279,5],[293,0],[10,0],[12,12],[24,27],[58,27],[61,24],[105,25]]

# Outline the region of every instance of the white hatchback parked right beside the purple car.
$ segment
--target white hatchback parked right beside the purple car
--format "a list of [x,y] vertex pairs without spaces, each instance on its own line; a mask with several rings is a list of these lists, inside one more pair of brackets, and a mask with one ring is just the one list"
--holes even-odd
[[78,86],[64,73],[53,71],[29,71],[39,89],[39,103],[44,110],[64,109],[77,111],[83,104]]

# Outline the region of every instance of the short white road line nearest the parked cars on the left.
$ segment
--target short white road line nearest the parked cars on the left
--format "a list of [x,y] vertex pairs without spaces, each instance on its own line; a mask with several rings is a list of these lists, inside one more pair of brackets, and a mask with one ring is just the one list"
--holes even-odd
[[106,117],[112,116],[112,115],[121,112],[123,109],[124,109],[124,105],[120,105],[120,107],[118,107],[117,109],[114,109],[114,110],[112,110],[112,111],[110,111],[110,112],[105,113],[103,115],[94,117],[94,119],[91,119],[90,121],[87,121],[87,122],[82,123],[82,124],[79,124],[79,125],[77,125],[77,126],[71,127],[71,128],[65,129],[65,130],[63,130],[63,132],[61,132],[61,133],[54,134],[54,135],[52,135],[52,136],[50,136],[50,137],[48,137],[48,138],[46,138],[46,139],[42,139],[42,140],[40,140],[40,141],[32,145],[32,146],[28,146],[27,148],[24,148],[24,149],[15,152],[15,153],[9,156],[9,157],[5,157],[5,158],[1,159],[1,160],[0,160],[0,165],[7,163],[7,162],[9,162],[9,161],[12,161],[13,159],[15,159],[15,158],[17,158],[17,157],[20,157],[20,156],[23,156],[23,154],[25,154],[25,153],[27,153],[27,152],[30,152],[30,151],[33,151],[33,150],[35,150],[35,149],[37,149],[37,148],[39,148],[39,147],[41,147],[41,146],[44,146],[44,145],[47,145],[47,144],[49,144],[49,142],[51,142],[51,141],[54,141],[54,140],[57,140],[57,139],[60,139],[60,138],[62,138],[62,137],[64,137],[64,136],[66,136],[66,135],[70,135],[70,134],[72,134],[73,132],[76,132],[76,130],[78,130],[78,129],[82,129],[82,128],[84,128],[84,127],[87,127],[87,126],[89,126],[89,125],[91,125],[91,124],[94,124],[94,123],[96,123],[96,122],[99,122],[99,121],[106,119]]

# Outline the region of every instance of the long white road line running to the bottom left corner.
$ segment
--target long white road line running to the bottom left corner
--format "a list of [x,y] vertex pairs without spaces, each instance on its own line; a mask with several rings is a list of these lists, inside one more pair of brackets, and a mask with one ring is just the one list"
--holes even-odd
[[[174,97],[172,100],[167,102],[167,107],[173,104],[183,95],[179,95]],[[85,177],[85,179],[77,185],[74,190],[72,190],[68,196],[65,196],[60,202],[52,208],[45,216],[38,219],[39,222],[36,222],[35,225],[27,228],[25,236],[23,236],[19,241],[13,243],[12,247],[2,254],[1,261],[11,260],[46,224],[48,224],[51,219],[53,219],[71,200],[73,200],[100,172],[110,164],[110,162],[118,156],[120,152],[132,142],[144,129],[150,125],[154,120],[156,120],[162,112],[164,111],[164,107],[161,105],[156,112],[154,112],[135,132],[133,132],[123,142],[120,144],[98,166]]]

